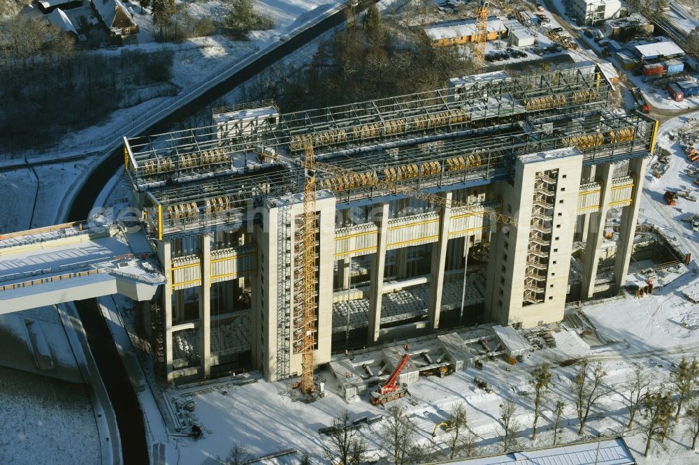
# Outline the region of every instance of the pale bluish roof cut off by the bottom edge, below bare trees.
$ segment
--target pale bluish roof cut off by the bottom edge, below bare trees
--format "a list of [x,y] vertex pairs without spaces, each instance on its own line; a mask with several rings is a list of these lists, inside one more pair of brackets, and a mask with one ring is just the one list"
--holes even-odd
[[568,464],[568,465],[633,465],[636,463],[629,452],[624,439],[607,439],[606,441],[590,441],[564,445],[557,448],[541,448],[510,452],[509,454],[479,457],[476,459],[464,459],[450,464],[464,465],[541,465],[541,464]]

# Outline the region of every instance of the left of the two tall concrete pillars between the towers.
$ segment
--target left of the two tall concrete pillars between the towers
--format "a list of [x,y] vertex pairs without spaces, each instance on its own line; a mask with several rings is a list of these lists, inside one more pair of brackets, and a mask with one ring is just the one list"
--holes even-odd
[[389,204],[378,206],[374,219],[378,226],[376,253],[371,262],[371,280],[369,283],[369,327],[368,345],[379,339],[381,329],[381,299],[384,292],[384,266],[386,265],[386,240],[388,238]]

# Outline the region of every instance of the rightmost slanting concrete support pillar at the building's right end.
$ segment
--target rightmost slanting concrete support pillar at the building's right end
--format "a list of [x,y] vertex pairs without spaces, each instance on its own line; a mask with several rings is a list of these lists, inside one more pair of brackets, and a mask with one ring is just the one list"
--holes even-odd
[[619,293],[621,286],[626,284],[628,263],[631,260],[633,250],[633,237],[636,232],[638,208],[641,205],[641,193],[643,191],[643,177],[646,174],[648,158],[634,158],[628,163],[628,170],[633,177],[633,191],[631,204],[624,207],[621,212],[621,224],[619,225],[619,241],[617,242],[617,255],[614,258],[614,292]]

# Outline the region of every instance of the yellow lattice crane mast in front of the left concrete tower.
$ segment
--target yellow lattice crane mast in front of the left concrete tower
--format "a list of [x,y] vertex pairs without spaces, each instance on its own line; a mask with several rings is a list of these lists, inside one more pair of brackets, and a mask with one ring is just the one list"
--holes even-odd
[[303,289],[303,335],[301,342],[301,392],[310,394],[315,390],[313,383],[313,350],[315,349],[315,230],[316,230],[316,186],[313,144],[305,141],[305,182],[303,184],[303,267],[301,281]]

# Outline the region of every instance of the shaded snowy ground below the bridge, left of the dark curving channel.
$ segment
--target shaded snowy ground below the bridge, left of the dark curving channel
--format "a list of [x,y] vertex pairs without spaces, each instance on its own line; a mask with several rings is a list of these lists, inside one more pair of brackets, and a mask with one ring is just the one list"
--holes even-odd
[[[22,339],[26,336],[15,333],[13,341],[8,334],[24,325],[24,320],[40,325],[48,341],[55,363],[48,376],[40,374],[31,356],[25,354]],[[55,307],[3,315],[0,332],[4,341],[0,357],[0,463],[100,463],[103,452],[95,410],[101,412],[101,406],[92,406],[89,388],[82,385]]]

